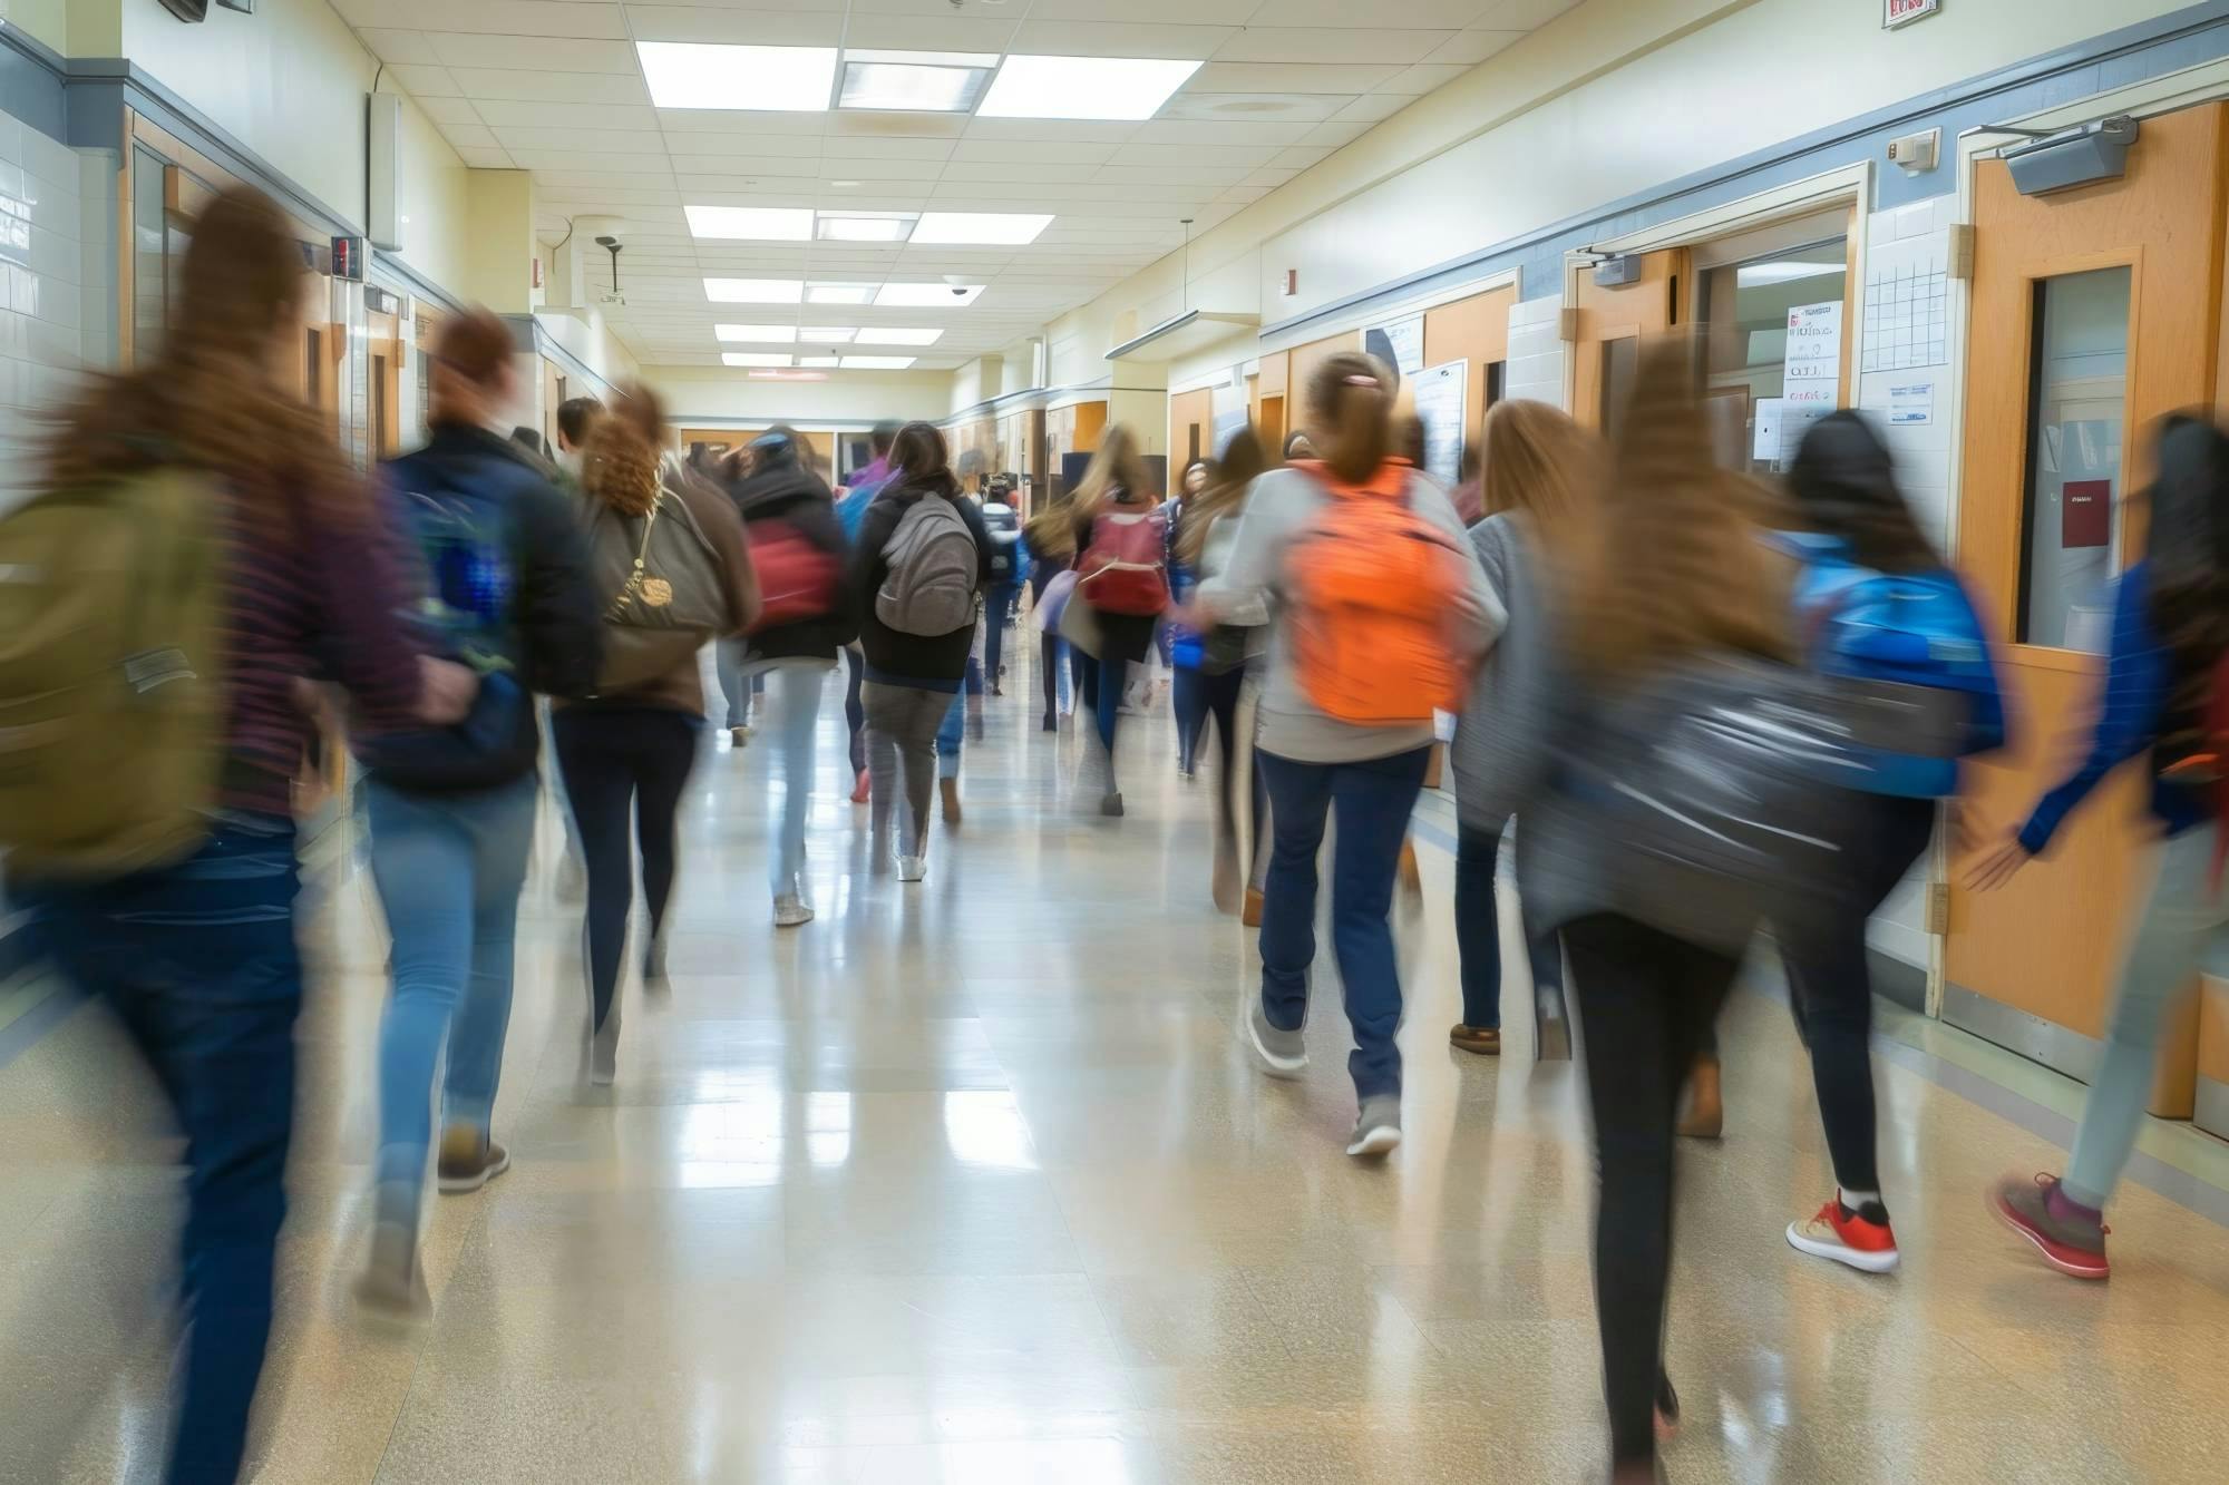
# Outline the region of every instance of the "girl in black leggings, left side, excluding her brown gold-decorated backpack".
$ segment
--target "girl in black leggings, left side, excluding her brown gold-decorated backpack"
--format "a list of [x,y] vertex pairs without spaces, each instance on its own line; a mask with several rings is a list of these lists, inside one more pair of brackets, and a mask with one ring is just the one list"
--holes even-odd
[[[742,633],[758,618],[760,595],[736,504],[660,457],[664,430],[651,439],[644,424],[655,428],[662,410],[646,392],[631,390],[620,406],[631,412],[606,417],[588,433],[582,486],[593,504],[582,517],[591,526],[615,520],[620,533],[635,540],[640,522],[678,502],[713,551],[729,622]],[[727,642],[724,635],[718,642]],[[635,905],[637,852],[651,910],[642,979],[666,979],[666,905],[680,854],[673,823],[704,729],[702,669],[691,653],[642,685],[559,705],[555,718],[557,767],[588,861],[588,1081],[611,1084],[620,1059],[620,963]]]

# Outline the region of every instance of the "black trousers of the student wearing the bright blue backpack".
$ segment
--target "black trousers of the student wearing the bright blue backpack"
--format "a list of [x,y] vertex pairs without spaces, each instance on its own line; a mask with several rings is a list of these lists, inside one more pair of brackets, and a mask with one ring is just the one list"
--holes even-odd
[[1819,1124],[1846,1191],[1879,1191],[1872,1108],[1872,974],[1866,968],[1866,919],[1897,890],[1935,834],[1935,800],[1879,798],[1868,834],[1850,856],[1852,883],[1843,912],[1808,932],[1781,932],[1788,1001],[1812,1055]]

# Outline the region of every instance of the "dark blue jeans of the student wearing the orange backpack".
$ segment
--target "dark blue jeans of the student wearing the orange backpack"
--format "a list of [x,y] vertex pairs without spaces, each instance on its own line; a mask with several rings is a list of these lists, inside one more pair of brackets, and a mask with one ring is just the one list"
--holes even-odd
[[1337,812],[1331,854],[1331,948],[1346,988],[1355,1052],[1346,1072],[1357,1097],[1400,1093],[1400,968],[1393,961],[1393,876],[1424,789],[1429,747],[1364,763],[1295,763],[1255,751],[1268,783],[1271,847],[1262,903],[1262,1015],[1279,1030],[1308,1019],[1315,961],[1315,858]]

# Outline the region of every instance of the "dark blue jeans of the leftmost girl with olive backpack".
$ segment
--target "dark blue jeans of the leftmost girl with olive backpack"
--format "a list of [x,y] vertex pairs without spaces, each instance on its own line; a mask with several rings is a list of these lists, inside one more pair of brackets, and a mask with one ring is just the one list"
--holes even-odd
[[176,867],[40,892],[58,968],[103,997],[185,1135],[183,1396],[169,1481],[232,1481],[272,1329],[294,1128],[294,825],[223,821]]

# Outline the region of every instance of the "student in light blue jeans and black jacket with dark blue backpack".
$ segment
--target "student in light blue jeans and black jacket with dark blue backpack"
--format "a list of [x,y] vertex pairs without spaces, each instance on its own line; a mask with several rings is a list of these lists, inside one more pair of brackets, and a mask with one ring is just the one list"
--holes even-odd
[[[441,1188],[475,1191],[510,1164],[488,1130],[539,798],[533,693],[584,693],[602,651],[586,551],[553,466],[488,430],[515,399],[508,326],[486,310],[450,319],[435,348],[432,435],[388,466],[432,578],[428,633],[481,671],[459,727],[357,742],[372,879],[395,939],[357,1298],[392,1318],[428,1302],[417,1235],[437,1064]],[[593,876],[593,854],[588,865]]]

